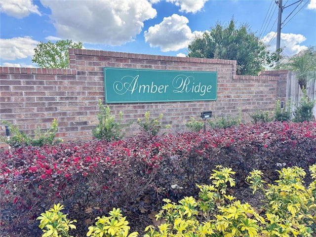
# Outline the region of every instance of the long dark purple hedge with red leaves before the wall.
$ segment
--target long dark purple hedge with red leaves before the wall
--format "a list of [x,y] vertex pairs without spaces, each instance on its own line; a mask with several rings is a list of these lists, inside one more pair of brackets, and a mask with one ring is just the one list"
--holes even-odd
[[237,188],[253,168],[271,179],[278,165],[307,171],[316,161],[316,121],[155,137],[141,133],[117,142],[21,147],[0,154],[2,232],[40,236],[36,218],[62,203],[84,236],[94,218],[113,207],[133,223],[158,210],[162,198],[197,195],[195,185],[209,183],[217,164],[237,172]]

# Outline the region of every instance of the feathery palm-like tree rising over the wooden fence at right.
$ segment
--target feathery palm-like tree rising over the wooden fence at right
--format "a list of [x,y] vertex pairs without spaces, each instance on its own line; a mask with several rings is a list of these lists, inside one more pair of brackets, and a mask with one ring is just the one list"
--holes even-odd
[[293,56],[285,57],[280,68],[296,72],[301,89],[306,89],[308,80],[316,80],[316,46],[311,46]]

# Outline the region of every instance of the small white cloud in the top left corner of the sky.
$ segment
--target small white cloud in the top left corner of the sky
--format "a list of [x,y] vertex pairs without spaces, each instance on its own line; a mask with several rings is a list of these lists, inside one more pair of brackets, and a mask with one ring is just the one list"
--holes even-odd
[[15,18],[23,18],[31,13],[41,16],[38,6],[32,0],[2,0],[0,1],[1,12]]

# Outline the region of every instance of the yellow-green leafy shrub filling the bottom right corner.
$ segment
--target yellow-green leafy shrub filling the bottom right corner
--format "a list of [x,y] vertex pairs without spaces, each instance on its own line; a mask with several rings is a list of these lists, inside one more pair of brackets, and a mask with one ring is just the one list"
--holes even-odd
[[314,182],[308,189],[302,180],[306,172],[296,166],[277,170],[279,180],[276,184],[268,184],[268,189],[263,188],[263,181],[258,177],[262,173],[258,170],[246,178],[254,191],[261,189],[267,198],[264,205],[266,223],[262,227],[265,236],[311,236],[315,231],[316,164],[310,166],[310,171]]

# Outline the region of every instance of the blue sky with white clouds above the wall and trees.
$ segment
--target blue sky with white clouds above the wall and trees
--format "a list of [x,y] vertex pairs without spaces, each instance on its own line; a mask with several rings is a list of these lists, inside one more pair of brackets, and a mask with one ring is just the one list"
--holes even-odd
[[[316,45],[316,0],[283,0],[281,47],[292,55]],[[70,39],[84,48],[185,56],[216,22],[246,23],[276,48],[275,0],[1,0],[0,65],[35,67],[42,41]]]

